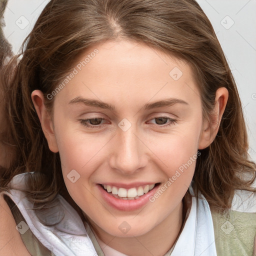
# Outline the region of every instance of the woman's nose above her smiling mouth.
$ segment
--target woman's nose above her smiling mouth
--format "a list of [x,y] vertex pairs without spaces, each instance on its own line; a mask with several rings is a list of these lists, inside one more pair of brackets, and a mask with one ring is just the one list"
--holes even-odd
[[117,130],[111,144],[110,167],[125,175],[141,170],[147,164],[146,147],[134,128]]

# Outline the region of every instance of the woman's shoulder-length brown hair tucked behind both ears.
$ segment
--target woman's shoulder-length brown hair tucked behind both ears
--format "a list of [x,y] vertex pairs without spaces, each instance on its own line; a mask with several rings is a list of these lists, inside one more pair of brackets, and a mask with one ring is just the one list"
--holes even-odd
[[256,166],[248,158],[237,88],[212,25],[195,0],[51,0],[25,39],[13,74],[15,58],[6,68],[5,82],[11,84],[6,111],[19,154],[0,175],[2,189],[15,174],[34,171],[27,192],[37,208],[57,193],[72,201],[59,154],[48,148],[30,94],[40,89],[51,109],[53,100],[46,95],[71,70],[74,59],[88,47],[112,39],[144,42],[187,61],[200,90],[204,118],[214,107],[217,88],[228,89],[217,136],[197,158],[193,186],[213,209],[229,208],[235,189],[255,191],[251,184]]

